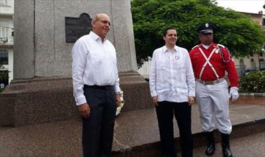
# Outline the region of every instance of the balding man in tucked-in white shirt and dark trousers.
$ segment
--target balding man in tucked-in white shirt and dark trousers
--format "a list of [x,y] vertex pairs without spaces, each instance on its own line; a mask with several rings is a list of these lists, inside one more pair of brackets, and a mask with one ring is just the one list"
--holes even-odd
[[84,157],[111,156],[116,108],[121,103],[116,50],[106,39],[110,19],[97,14],[89,35],[75,42],[73,94],[82,115]]

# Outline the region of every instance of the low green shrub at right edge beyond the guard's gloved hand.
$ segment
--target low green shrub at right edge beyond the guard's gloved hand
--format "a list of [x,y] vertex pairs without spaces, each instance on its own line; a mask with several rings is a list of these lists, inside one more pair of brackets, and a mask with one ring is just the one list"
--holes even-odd
[[240,79],[240,92],[265,92],[265,71],[251,72]]

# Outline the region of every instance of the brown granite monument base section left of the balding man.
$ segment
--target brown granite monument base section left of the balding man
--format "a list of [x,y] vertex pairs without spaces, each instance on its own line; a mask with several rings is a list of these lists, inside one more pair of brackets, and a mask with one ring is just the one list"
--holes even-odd
[[0,99],[1,125],[23,126],[78,117],[71,78],[15,80]]

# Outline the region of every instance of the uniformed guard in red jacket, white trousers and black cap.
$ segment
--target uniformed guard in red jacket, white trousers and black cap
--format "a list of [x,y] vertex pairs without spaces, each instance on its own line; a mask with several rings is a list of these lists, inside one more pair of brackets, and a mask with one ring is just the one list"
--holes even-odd
[[[215,125],[212,118],[214,115],[218,131],[222,135],[223,156],[231,157],[229,134],[232,132],[232,124],[229,118],[229,97],[232,101],[239,98],[238,75],[227,47],[213,43],[214,31],[212,24],[202,24],[197,28],[201,44],[192,48],[190,59],[195,73],[195,93],[202,129],[208,140],[206,155],[211,156],[215,151]],[[226,72],[229,81],[225,79]]]

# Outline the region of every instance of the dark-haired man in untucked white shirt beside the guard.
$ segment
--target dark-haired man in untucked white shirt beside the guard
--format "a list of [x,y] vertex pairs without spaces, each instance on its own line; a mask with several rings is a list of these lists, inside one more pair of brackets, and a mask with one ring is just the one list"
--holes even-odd
[[176,28],[163,33],[165,46],[153,51],[149,76],[151,97],[156,106],[162,155],[176,156],[173,117],[179,126],[181,154],[192,156],[191,104],[194,104],[195,78],[186,49],[176,46]]

